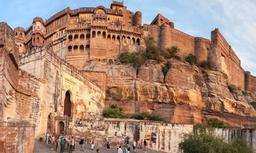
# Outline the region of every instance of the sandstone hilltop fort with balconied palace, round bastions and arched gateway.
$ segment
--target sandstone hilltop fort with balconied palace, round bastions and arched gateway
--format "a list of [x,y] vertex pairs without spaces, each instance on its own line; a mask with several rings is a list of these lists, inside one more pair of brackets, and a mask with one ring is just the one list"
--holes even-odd
[[[105,99],[110,80],[108,71],[85,67],[89,61],[116,61],[120,53],[126,51],[141,52],[147,37],[153,37],[161,50],[178,46],[180,57],[193,54],[198,62],[210,61],[215,71],[227,76],[229,84],[252,94],[256,92],[256,77],[241,67],[240,59],[219,29],[211,31],[211,40],[208,40],[175,29],[175,23],[161,14],[150,24],[142,24],[142,13],[127,10],[123,2],[113,1],[110,9],[98,6],[71,10],[68,7],[49,19],[35,17],[26,30],[21,27],[12,30],[6,22],[0,22],[0,148],[5,152],[32,152],[34,140],[45,139],[47,131],[60,135],[80,132],[74,125],[76,118],[100,122],[102,110],[112,103]],[[164,81],[158,83],[162,86]],[[143,96],[146,95],[141,95],[142,99]],[[147,105],[150,110],[160,105],[141,101],[143,103],[126,105]],[[241,115],[238,122],[246,129],[255,129],[255,110],[249,104],[244,107],[250,108],[254,116]],[[176,109],[177,113],[182,108]],[[195,124],[196,120],[183,122],[174,117],[170,122]],[[103,124],[110,126],[111,122]],[[137,128],[149,126],[149,123],[136,124]],[[154,124],[154,128],[157,125],[160,123]],[[172,125],[161,124],[162,129],[167,126]]]

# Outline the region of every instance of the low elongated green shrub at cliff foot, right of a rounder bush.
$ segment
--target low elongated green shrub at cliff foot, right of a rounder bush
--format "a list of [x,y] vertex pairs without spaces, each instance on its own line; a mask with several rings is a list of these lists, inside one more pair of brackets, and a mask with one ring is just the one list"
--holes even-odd
[[134,115],[131,116],[131,118],[140,119],[140,120],[147,119],[147,120],[151,120],[151,121],[166,122],[165,118],[163,118],[162,116],[156,115],[156,114],[150,114],[148,112],[142,112],[142,113],[139,113],[139,114],[134,114]]

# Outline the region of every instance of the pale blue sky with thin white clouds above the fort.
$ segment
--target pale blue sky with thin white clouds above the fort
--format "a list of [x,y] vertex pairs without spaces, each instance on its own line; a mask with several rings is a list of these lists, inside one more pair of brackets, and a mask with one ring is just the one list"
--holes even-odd
[[[0,0],[0,22],[6,21],[12,29],[26,29],[36,16],[48,19],[67,7],[110,8],[111,3],[111,0]],[[160,13],[175,23],[175,29],[194,37],[210,39],[210,32],[219,28],[244,70],[256,75],[255,0],[125,0],[124,6],[133,12],[141,11],[142,23],[150,24]]]

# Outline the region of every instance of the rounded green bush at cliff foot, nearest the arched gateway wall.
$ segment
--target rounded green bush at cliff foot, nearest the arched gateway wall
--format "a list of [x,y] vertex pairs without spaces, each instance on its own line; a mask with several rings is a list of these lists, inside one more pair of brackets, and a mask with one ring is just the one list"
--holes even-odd
[[126,118],[127,116],[123,114],[123,108],[117,105],[110,105],[109,108],[104,109],[102,112],[103,117],[108,118]]

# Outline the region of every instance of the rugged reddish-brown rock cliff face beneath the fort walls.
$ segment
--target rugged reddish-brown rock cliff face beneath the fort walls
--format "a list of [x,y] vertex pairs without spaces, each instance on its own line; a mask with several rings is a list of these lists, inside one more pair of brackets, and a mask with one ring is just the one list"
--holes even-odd
[[171,123],[196,124],[205,120],[223,121],[228,127],[255,128],[256,111],[252,93],[230,92],[228,77],[220,71],[202,71],[196,66],[173,62],[164,76],[164,63],[147,61],[136,70],[130,64],[90,61],[84,70],[108,73],[106,89],[121,93],[117,104],[126,114],[154,112]]

